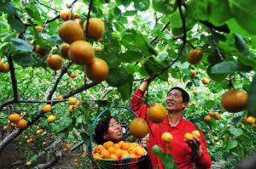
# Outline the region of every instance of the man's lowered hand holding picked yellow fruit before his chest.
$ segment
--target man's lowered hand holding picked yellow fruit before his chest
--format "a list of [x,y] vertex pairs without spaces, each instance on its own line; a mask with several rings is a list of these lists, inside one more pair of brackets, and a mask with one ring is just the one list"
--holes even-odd
[[195,158],[200,158],[202,154],[201,149],[201,140],[200,138],[197,138],[196,136],[193,136],[192,139],[184,140],[189,147],[192,149],[192,154]]

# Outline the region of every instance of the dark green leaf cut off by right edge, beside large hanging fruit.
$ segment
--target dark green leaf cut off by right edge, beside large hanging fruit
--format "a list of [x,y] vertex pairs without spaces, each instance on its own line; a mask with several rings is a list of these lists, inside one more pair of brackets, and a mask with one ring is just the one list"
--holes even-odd
[[248,91],[248,115],[256,117],[256,75],[253,76],[253,82]]

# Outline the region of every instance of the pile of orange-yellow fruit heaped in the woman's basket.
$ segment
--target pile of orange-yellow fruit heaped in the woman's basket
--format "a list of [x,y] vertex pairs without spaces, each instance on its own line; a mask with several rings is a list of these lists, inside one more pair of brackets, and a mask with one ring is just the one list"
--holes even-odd
[[93,156],[102,159],[137,158],[145,153],[145,149],[139,144],[125,143],[124,141],[120,141],[118,144],[108,141],[93,148]]

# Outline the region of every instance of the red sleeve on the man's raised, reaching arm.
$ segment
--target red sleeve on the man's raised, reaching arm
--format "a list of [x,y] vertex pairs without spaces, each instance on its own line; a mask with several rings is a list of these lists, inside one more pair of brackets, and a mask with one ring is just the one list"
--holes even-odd
[[137,91],[134,93],[133,97],[131,98],[131,110],[134,111],[134,113],[145,119],[147,106],[146,104],[143,104],[143,96],[144,93],[141,89],[137,89]]

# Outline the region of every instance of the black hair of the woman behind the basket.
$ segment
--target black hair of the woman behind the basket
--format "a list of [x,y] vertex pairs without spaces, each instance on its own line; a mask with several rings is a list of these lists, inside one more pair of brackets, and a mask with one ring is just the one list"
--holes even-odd
[[106,132],[108,132],[109,122],[112,118],[113,116],[108,116],[106,119],[101,119],[96,123],[94,135],[94,140],[96,141],[96,144],[104,144],[108,141],[107,139],[103,138],[103,136]]

